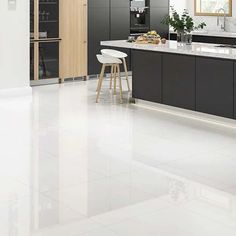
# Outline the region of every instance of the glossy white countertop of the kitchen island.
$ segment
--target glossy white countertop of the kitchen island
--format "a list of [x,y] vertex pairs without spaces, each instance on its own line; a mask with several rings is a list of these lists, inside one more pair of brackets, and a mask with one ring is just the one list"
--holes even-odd
[[224,58],[236,60],[236,49],[219,48],[218,44],[192,43],[192,45],[179,46],[176,41],[168,40],[166,44],[137,44],[128,43],[126,40],[102,41],[102,46],[138,49],[155,52],[166,52],[193,56]]

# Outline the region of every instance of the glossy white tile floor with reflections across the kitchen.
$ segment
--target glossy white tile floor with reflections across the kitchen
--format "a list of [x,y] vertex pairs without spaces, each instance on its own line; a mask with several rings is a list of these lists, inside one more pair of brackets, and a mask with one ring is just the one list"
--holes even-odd
[[235,236],[236,131],[95,87],[0,101],[0,235]]

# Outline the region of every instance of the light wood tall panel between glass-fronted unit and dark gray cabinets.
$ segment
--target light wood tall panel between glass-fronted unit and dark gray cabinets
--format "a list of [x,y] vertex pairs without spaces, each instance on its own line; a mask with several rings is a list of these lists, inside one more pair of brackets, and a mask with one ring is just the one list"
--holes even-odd
[[87,75],[87,1],[60,0],[60,78]]

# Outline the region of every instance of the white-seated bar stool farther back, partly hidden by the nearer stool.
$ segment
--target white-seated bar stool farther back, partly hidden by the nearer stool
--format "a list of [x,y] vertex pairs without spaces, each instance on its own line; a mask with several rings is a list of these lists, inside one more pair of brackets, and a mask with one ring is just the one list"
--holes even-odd
[[[123,61],[123,66],[124,66],[124,70],[125,70],[125,77],[126,77],[126,81],[127,81],[127,87],[128,87],[128,91],[130,91],[129,75],[128,75],[128,69],[127,69],[127,64],[126,64],[126,59],[125,59],[126,57],[128,57],[128,55],[124,52],[120,52],[120,51],[114,50],[114,49],[102,49],[101,53],[104,56],[118,58]],[[112,87],[112,78],[111,78],[111,82],[110,82],[110,87]]]

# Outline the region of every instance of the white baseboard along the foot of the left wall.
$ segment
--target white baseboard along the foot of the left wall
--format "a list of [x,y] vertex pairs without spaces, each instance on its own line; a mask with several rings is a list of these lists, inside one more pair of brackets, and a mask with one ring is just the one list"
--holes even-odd
[[31,87],[0,89],[0,99],[32,96]]

